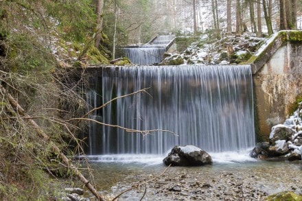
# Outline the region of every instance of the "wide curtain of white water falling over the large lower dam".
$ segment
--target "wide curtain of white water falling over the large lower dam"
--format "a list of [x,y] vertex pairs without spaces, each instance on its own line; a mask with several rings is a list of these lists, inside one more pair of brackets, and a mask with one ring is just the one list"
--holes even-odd
[[91,80],[91,108],[120,98],[91,118],[135,130],[170,130],[143,136],[119,128],[89,125],[88,154],[163,154],[174,145],[207,152],[253,147],[253,88],[246,66],[106,67]]

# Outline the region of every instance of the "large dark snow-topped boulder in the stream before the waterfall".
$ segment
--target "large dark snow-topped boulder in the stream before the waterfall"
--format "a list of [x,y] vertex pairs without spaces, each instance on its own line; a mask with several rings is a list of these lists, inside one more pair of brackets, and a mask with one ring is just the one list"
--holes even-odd
[[211,164],[212,158],[207,152],[194,145],[176,145],[163,159],[163,163],[172,166],[199,166]]

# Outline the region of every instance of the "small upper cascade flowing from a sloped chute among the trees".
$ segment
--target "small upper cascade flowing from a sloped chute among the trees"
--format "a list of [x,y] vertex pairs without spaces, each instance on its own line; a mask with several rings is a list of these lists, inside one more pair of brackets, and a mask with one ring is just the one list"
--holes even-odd
[[133,64],[156,64],[163,60],[167,45],[175,36],[157,36],[152,42],[140,46],[128,46],[123,50]]

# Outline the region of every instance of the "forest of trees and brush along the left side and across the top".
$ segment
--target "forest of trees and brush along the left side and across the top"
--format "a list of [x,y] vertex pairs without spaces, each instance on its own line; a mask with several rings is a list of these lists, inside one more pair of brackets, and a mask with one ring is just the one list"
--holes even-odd
[[91,170],[72,161],[91,121],[86,80],[72,72],[160,34],[191,42],[301,28],[302,0],[0,0],[0,199],[57,200],[71,186],[98,195]]

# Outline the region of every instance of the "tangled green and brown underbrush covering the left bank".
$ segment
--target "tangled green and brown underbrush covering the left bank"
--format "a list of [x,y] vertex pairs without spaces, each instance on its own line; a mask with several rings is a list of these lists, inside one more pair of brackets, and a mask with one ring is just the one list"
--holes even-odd
[[[49,141],[67,156],[81,152],[78,126],[65,120],[82,114],[82,88],[62,80],[68,79],[65,67],[75,62],[108,61],[90,43],[91,2],[0,1],[0,200],[55,200],[63,186],[73,185],[71,170]],[[29,117],[19,113],[10,95]]]

